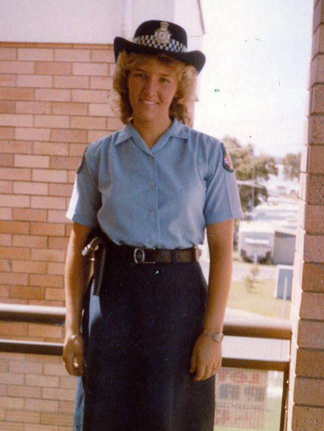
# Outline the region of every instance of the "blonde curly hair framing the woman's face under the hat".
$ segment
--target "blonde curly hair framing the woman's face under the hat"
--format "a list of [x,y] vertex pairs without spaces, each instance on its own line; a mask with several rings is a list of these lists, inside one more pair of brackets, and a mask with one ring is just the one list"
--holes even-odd
[[115,91],[115,97],[112,99],[113,110],[120,116],[124,124],[131,121],[133,109],[128,95],[129,72],[139,62],[150,58],[155,58],[163,65],[173,68],[176,73],[177,91],[169,108],[170,118],[177,118],[184,124],[192,126],[193,106],[196,101],[197,71],[193,66],[165,54],[139,54],[127,53],[126,51],[119,54],[113,77],[113,89]]

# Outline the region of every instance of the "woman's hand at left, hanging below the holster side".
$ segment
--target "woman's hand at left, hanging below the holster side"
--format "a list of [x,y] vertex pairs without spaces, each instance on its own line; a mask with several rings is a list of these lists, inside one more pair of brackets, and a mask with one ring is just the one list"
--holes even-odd
[[81,334],[74,334],[65,338],[62,358],[65,368],[71,376],[84,374],[83,337]]

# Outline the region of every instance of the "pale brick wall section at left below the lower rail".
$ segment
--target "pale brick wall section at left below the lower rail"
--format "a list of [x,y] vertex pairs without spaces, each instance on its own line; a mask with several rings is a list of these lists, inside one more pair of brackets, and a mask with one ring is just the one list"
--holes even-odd
[[58,357],[0,353],[0,430],[73,431],[75,382]]

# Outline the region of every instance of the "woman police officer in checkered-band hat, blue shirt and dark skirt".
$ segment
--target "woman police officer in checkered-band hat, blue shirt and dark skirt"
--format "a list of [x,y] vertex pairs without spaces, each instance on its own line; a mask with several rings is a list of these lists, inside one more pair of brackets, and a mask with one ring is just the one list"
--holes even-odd
[[[79,376],[74,430],[212,431],[241,208],[224,145],[188,127],[205,58],[166,21],[142,23],[114,49],[126,126],[87,148],[67,213],[63,359]],[[98,226],[107,251],[99,296],[85,292],[81,254]],[[208,289],[196,247],[205,227]]]

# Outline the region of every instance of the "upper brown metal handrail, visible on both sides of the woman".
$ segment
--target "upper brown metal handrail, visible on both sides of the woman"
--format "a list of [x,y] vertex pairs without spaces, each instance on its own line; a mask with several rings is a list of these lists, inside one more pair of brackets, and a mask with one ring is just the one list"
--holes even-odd
[[[64,325],[65,311],[64,307],[0,303],[0,321]],[[251,317],[226,315],[223,332],[241,337],[290,340],[292,329],[289,321],[264,316],[252,320]]]

